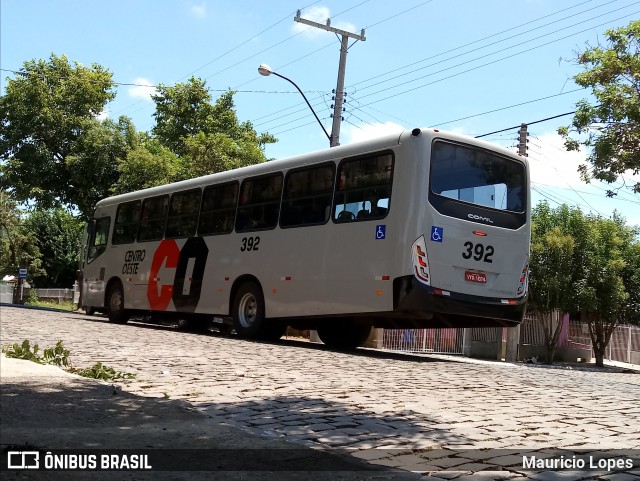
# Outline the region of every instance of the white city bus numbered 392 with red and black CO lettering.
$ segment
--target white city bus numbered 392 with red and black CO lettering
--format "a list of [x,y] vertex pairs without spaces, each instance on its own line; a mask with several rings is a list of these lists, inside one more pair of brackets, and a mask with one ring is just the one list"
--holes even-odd
[[514,326],[527,299],[525,158],[431,129],[100,201],[83,304],[228,319],[246,338],[316,329]]

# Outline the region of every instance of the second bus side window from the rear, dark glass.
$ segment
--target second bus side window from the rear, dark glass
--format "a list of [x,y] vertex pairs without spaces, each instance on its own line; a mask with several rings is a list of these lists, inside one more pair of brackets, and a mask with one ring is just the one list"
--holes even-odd
[[329,220],[334,177],[333,163],[288,172],[280,227],[325,224]]

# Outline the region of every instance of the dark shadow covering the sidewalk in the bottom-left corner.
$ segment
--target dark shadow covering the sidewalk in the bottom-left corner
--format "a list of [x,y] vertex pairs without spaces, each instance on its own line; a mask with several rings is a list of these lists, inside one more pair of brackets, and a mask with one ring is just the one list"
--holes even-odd
[[[314,471],[388,469],[345,453],[257,436],[207,418],[184,401],[116,393],[113,386],[73,376],[7,381],[3,380],[0,403],[0,444],[5,451],[38,451],[44,459],[46,452],[65,449],[96,454],[113,449],[139,450],[164,466],[160,466],[161,471],[180,471],[171,462],[174,458],[190,471],[228,472],[229,476],[220,479],[237,479],[233,471],[275,471],[271,477],[260,478],[275,481],[286,479],[278,471],[306,471],[311,466]],[[42,478],[25,479],[70,479],[68,472],[42,474]],[[170,472],[167,476],[159,474],[131,479],[194,479],[175,477]]]

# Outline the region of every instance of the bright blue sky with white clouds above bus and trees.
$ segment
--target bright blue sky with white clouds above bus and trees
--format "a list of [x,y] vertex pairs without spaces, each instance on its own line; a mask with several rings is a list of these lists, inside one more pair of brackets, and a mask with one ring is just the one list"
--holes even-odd
[[[304,99],[286,80],[259,75],[268,64],[305,93],[331,132],[340,38],[294,21],[303,18],[360,34],[350,41],[347,103],[340,143],[432,127],[515,148],[529,126],[533,205],[567,203],[640,225],[640,194],[622,182],[585,184],[587,152],[566,152],[556,134],[581,99],[575,59],[606,44],[604,32],[640,18],[633,0],[2,0],[0,90],[32,59],[66,55],[113,73],[116,99],[103,117],[126,115],[137,130],[154,126],[158,84],[194,76],[214,98],[232,89],[240,121],[278,142],[268,158],[328,147]],[[539,122],[550,117],[560,116]],[[607,190],[617,190],[607,198]]]

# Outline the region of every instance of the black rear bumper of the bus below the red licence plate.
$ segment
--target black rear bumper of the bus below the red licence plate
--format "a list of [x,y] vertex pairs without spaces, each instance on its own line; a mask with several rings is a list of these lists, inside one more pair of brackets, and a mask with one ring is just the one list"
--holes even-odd
[[430,327],[512,327],[524,319],[527,297],[471,296],[426,286],[413,276],[393,281],[398,317],[423,319]]

